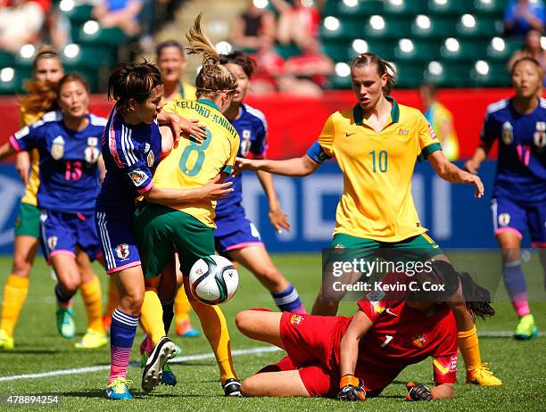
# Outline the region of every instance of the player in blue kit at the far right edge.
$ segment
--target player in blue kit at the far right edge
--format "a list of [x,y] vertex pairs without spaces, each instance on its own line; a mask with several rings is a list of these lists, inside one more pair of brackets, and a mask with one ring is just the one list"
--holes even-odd
[[481,143],[466,164],[468,171],[476,173],[495,140],[499,141],[493,227],[501,245],[504,284],[519,317],[514,337],[521,340],[538,334],[521,268],[526,228],[533,246],[539,248],[546,273],[546,100],[538,97],[543,75],[532,57],[514,63],[511,77],[516,95],[488,107]]

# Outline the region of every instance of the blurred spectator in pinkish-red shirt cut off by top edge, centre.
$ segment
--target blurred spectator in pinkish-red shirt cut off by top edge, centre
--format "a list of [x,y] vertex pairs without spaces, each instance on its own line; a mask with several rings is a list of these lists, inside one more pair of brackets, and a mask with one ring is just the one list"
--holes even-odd
[[318,38],[320,12],[323,0],[271,0],[280,13],[277,40],[282,45],[294,43],[304,48],[310,40]]

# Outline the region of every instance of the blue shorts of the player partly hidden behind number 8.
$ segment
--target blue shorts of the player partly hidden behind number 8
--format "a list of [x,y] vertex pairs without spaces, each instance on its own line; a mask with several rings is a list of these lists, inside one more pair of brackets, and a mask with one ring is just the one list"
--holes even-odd
[[[228,258],[229,251],[244,249],[248,246],[263,244],[261,242],[260,232],[252,222],[244,217],[236,220],[217,220],[214,231],[214,247],[220,255]],[[221,235],[217,235],[217,234]]]

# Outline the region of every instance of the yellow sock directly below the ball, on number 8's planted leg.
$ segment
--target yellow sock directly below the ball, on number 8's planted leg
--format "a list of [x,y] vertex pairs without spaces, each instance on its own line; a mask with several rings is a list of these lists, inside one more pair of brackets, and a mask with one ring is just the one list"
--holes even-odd
[[218,362],[220,381],[225,383],[229,378],[237,378],[231,358],[231,342],[229,342],[226,317],[222,310],[218,306],[205,305],[194,299],[190,302]]

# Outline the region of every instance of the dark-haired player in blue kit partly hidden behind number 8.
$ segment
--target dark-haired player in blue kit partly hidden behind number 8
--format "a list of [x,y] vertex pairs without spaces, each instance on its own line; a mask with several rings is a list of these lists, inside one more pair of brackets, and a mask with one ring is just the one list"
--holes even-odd
[[[244,104],[244,96],[250,87],[254,62],[243,53],[235,52],[220,56],[224,64],[237,80],[236,93],[224,113],[235,126],[241,137],[237,155],[246,158],[252,155],[255,159],[263,159],[267,150],[268,126],[261,111]],[[280,209],[277,194],[273,187],[273,179],[267,172],[258,171],[258,179],[268,197],[269,218],[277,231],[290,229],[286,215]],[[243,181],[241,175],[229,178],[234,182],[235,193],[216,205],[216,229],[214,243],[216,251],[231,260],[241,263],[249,269],[273,296],[278,309],[293,313],[305,313],[300,296],[294,285],[286,280],[269,258],[268,251],[261,243],[260,233],[252,222],[244,215],[241,204],[243,201]]]

